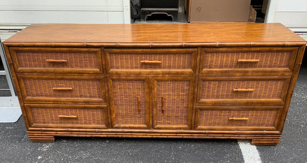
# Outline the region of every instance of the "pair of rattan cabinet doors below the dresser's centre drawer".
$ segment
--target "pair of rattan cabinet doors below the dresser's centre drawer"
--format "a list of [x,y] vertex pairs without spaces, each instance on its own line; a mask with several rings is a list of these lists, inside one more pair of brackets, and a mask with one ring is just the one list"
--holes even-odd
[[114,128],[191,129],[194,76],[108,77]]

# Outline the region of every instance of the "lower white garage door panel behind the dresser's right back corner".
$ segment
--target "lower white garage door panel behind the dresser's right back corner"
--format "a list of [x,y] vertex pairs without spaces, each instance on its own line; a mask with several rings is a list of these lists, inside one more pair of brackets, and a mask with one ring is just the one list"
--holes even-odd
[[307,12],[276,12],[274,22],[307,27]]

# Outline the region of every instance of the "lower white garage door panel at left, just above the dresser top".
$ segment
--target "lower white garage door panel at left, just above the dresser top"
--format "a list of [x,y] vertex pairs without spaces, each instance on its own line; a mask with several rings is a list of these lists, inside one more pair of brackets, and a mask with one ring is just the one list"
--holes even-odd
[[[1,23],[107,23],[106,11],[0,11]],[[121,18],[123,19],[123,18]],[[118,21],[121,21],[118,20]]]

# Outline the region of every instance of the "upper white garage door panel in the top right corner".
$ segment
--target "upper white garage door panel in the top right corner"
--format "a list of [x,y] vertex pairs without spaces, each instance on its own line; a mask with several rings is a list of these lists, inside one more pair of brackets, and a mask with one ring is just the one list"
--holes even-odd
[[276,12],[307,12],[307,0],[279,0]]

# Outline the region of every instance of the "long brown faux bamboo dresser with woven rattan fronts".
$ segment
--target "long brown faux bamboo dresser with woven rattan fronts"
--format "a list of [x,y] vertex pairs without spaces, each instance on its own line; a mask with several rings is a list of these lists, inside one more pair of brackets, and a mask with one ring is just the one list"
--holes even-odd
[[306,42],[279,23],[36,24],[4,42],[29,139],[279,143]]

